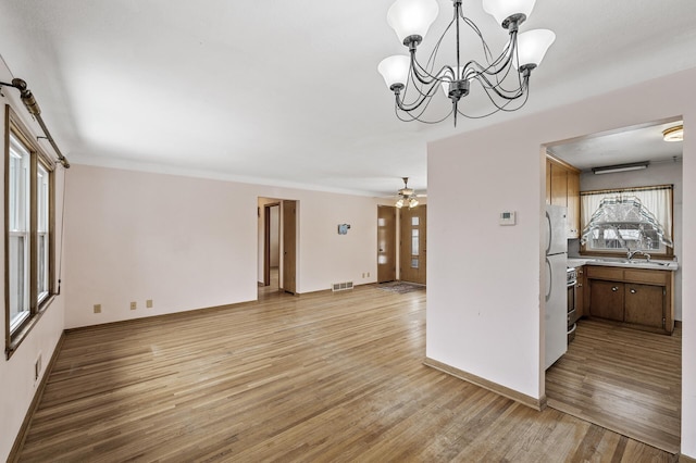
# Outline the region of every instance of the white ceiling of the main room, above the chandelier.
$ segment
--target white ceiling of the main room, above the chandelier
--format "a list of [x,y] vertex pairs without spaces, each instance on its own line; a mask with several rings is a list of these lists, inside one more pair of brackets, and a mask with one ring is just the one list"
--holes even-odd
[[426,188],[428,140],[696,67],[696,1],[538,0],[522,29],[557,39],[523,110],[401,123],[376,72],[405,52],[391,1],[0,0],[0,54],[73,163],[378,196]]

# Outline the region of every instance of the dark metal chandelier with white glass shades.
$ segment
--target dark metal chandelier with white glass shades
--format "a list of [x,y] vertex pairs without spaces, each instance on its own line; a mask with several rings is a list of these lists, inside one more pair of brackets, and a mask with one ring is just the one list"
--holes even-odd
[[[433,51],[423,64],[415,57],[418,46],[437,17],[439,8],[436,0],[397,0],[387,12],[387,23],[409,49],[408,55],[388,57],[377,70],[396,98],[395,112],[405,122],[420,121],[435,124],[453,115],[470,118],[486,117],[498,111],[517,111],[526,103],[530,89],[530,74],[539,65],[546,51],[556,39],[548,29],[534,29],[518,35],[519,26],[530,16],[536,0],[483,0],[484,10],[508,30],[510,38],[497,57],[483,38],[483,34],[462,11],[462,0],[451,0],[453,17],[434,42]],[[460,58],[460,28],[467,25],[480,40],[483,62],[462,61]],[[445,37],[453,29],[456,34],[455,57],[440,64],[438,51]],[[439,67],[436,67],[439,66]],[[481,87],[490,102],[483,114],[470,114],[463,110],[460,99],[475,91],[472,84]],[[430,118],[425,113],[432,99],[442,88],[451,101],[451,109],[445,115]]]

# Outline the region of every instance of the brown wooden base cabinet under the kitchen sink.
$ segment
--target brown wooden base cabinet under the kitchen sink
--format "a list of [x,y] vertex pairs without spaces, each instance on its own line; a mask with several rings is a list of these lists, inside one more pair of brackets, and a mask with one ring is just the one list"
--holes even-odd
[[635,328],[674,330],[674,272],[585,266],[589,315]]

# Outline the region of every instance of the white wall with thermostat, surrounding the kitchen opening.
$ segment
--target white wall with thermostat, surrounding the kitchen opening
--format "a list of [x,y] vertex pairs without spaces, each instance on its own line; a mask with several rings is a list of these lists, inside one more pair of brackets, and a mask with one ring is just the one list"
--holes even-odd
[[[540,399],[542,145],[682,114],[684,280],[696,274],[696,70],[428,145],[426,355]],[[498,213],[518,212],[518,225]],[[696,287],[682,288],[682,452],[696,456]]]

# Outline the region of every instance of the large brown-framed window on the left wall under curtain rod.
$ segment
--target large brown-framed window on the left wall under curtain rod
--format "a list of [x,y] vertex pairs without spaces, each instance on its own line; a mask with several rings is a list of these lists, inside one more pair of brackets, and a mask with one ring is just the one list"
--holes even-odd
[[53,293],[53,170],[7,107],[5,353],[32,328]]

